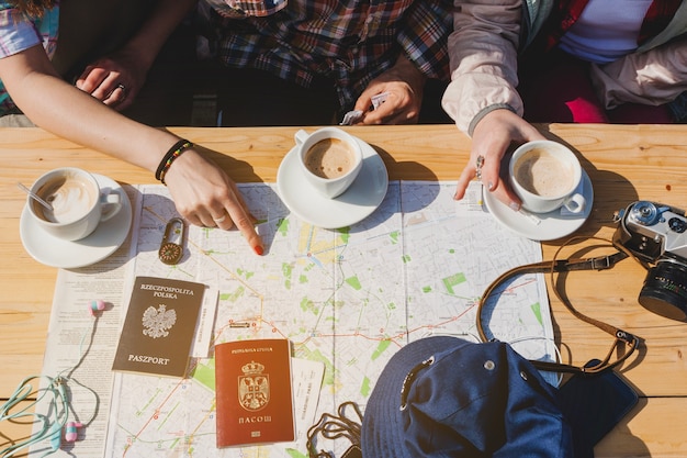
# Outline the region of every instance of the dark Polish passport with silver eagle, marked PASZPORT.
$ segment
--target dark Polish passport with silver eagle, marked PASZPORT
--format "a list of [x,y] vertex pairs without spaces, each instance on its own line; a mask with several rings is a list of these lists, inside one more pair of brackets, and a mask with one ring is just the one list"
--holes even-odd
[[205,284],[136,277],[113,370],[183,377]]

